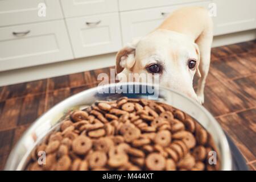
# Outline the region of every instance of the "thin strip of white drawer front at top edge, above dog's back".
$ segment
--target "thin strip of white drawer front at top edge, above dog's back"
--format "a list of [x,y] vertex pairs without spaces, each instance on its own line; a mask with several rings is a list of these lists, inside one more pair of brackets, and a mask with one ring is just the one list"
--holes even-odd
[[169,5],[177,5],[189,2],[198,2],[203,0],[119,0],[119,10],[127,11],[127,10],[138,10],[144,9],[148,7],[160,7],[160,6],[169,6]]

